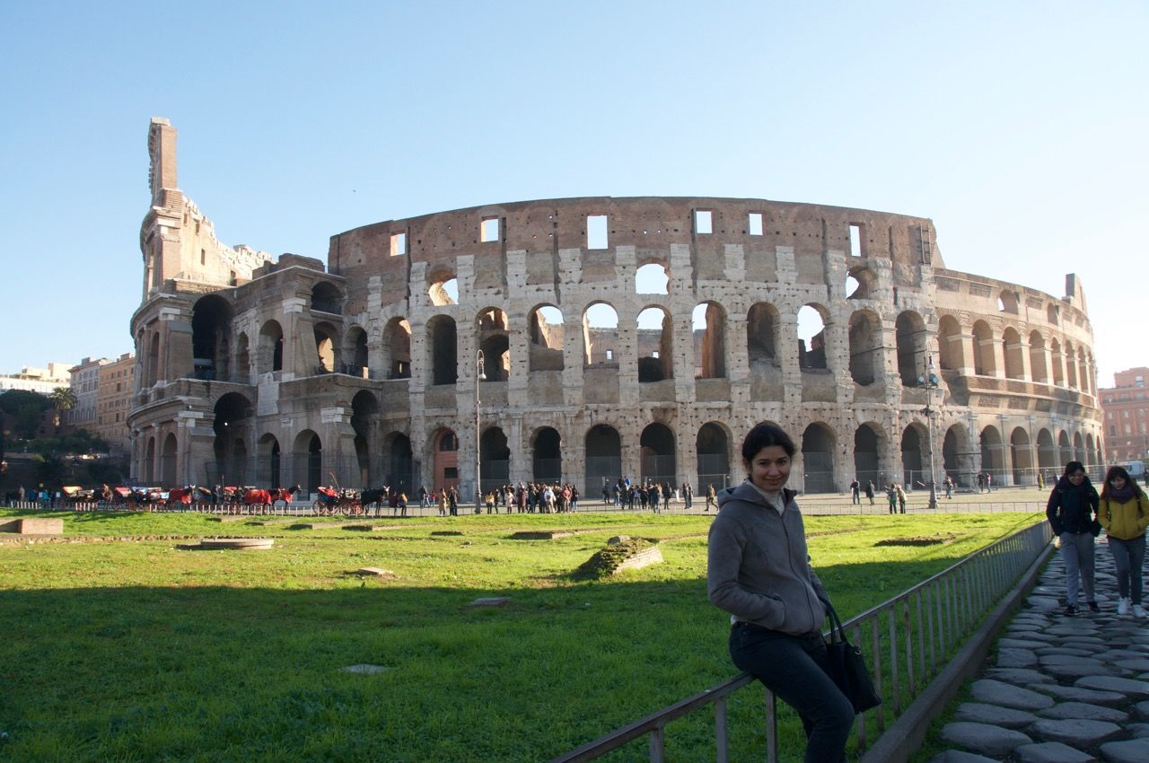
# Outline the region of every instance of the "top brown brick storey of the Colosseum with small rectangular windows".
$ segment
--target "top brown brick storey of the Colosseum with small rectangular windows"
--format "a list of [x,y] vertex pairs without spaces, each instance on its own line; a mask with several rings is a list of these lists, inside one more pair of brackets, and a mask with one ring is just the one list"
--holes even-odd
[[[699,230],[696,211],[710,213],[710,232]],[[761,216],[761,233],[754,230]],[[588,217],[607,217],[607,244],[592,248]],[[496,219],[498,238],[483,240],[483,223]],[[633,247],[639,263],[668,262],[672,248],[689,247],[696,280],[725,278],[726,247],[741,246],[747,263],[773,261],[779,247],[792,248],[800,283],[822,283],[825,255],[850,253],[850,229],[861,231],[861,256],[892,262],[895,283],[916,286],[923,262],[944,267],[933,223],[924,217],[866,209],[716,198],[550,199],[471,207],[386,221],[331,238],[331,272],[367,287],[379,276],[383,301],[407,296],[409,263],[427,272],[454,271],[462,255],[475,257],[484,287],[506,287],[507,253],[526,253],[529,283],[561,283],[560,251],[580,252],[584,283],[615,277],[617,247]],[[406,237],[406,253],[392,254],[392,237]],[[923,247],[923,241],[925,246]],[[754,271],[754,268],[748,268]]]

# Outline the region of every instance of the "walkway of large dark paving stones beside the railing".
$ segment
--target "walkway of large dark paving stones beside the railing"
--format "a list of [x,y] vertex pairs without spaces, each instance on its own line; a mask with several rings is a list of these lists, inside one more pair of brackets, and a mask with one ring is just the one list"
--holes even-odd
[[1109,545],[1096,545],[1100,612],[1065,608],[1059,553],[971,681],[931,763],[1149,762],[1149,618],[1117,615]]

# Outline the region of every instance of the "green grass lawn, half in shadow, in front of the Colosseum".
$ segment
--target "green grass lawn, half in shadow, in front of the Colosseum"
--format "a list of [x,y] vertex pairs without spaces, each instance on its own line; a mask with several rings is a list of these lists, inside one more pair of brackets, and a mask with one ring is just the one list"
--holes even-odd
[[[0,510],[10,516],[22,514]],[[47,516],[76,538],[250,534],[276,546],[0,545],[3,761],[539,761],[737,672],[727,617],[705,596],[708,517],[380,519],[356,532]],[[807,530],[847,617],[1038,518],[809,517]],[[511,539],[526,530],[574,532]],[[616,534],[661,541],[665,563],[572,579]],[[876,546],[926,535],[946,542]],[[363,579],[361,567],[395,577]],[[469,608],[478,596],[511,602]],[[340,670],[358,663],[385,670]],[[758,687],[731,702],[735,760],[764,757],[761,702]],[[714,758],[712,714],[695,715],[669,727],[668,760]],[[800,733],[785,723],[784,760],[800,760]],[[607,760],[646,757],[640,741]]]

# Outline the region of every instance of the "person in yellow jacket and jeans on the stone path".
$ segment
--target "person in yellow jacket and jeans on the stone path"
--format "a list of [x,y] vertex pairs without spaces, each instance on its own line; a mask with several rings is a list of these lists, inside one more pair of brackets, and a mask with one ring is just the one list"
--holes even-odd
[[1149,498],[1123,467],[1111,467],[1101,491],[1097,521],[1105,529],[1109,552],[1117,565],[1117,614],[1146,617],[1141,606],[1141,565],[1146,557]]

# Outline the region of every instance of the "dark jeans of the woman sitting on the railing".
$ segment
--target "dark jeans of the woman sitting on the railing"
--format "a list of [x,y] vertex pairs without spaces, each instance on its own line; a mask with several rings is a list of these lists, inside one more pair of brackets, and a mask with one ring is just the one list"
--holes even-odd
[[846,760],[854,707],[826,675],[820,633],[788,635],[750,623],[730,632],[730,656],[779,699],[797,710],[808,739],[805,763]]

